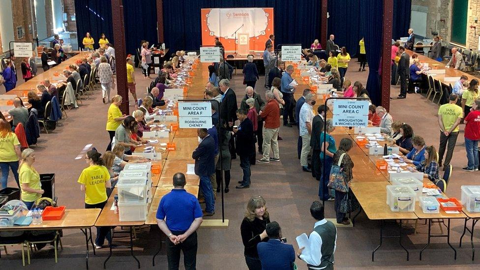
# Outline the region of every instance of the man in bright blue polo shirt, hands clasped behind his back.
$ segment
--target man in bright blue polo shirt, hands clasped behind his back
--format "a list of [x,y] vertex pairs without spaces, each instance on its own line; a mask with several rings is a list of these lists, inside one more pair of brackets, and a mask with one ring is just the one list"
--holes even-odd
[[194,195],[184,189],[185,175],[173,176],[174,188],[163,196],[156,214],[158,228],[167,236],[167,260],[169,270],[178,270],[180,250],[185,269],[196,269],[197,229],[202,224],[202,209]]

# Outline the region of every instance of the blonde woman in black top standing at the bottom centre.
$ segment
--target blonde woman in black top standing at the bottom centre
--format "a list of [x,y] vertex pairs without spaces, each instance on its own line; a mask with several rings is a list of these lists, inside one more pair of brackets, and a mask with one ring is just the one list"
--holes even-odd
[[262,269],[257,244],[269,240],[265,229],[270,223],[270,215],[265,205],[266,202],[262,196],[251,197],[240,225],[241,240],[244,246],[243,255],[249,270]]

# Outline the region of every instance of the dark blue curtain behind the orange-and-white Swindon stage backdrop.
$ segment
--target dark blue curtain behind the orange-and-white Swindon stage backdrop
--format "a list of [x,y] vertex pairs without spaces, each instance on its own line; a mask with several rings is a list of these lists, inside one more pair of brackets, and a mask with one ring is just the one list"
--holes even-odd
[[314,39],[320,39],[320,0],[164,0],[166,46],[172,51],[198,51],[202,45],[200,9],[223,7],[273,7],[275,44],[310,47]]

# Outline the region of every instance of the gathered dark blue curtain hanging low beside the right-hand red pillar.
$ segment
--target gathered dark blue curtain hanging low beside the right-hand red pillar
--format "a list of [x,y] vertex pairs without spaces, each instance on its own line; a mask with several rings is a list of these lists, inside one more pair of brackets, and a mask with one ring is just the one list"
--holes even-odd
[[372,103],[378,106],[382,98],[378,67],[382,56],[383,1],[362,0],[360,15],[368,18],[362,24],[369,69],[366,89]]

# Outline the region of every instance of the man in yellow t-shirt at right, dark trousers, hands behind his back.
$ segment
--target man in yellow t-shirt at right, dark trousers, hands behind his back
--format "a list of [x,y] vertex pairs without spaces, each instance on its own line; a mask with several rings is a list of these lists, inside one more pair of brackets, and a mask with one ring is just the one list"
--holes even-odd
[[462,120],[463,110],[456,105],[458,95],[451,93],[449,103],[443,104],[438,109],[438,125],[440,126],[440,146],[438,147],[438,166],[442,166],[442,159],[447,147],[447,155],[445,156],[444,170],[450,165],[453,149],[457,142],[458,131],[460,130],[458,124]]

